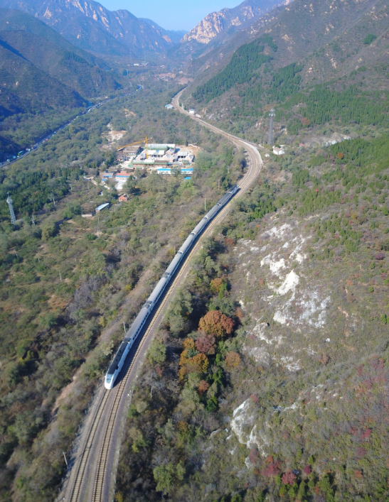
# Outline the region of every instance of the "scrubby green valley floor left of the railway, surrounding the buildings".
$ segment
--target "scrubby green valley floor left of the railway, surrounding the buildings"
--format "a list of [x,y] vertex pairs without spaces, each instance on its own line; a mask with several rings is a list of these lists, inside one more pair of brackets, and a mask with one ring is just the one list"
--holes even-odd
[[[166,110],[170,99],[154,85],[113,100],[1,170],[1,500],[53,501],[66,470],[63,452],[69,457],[123,322],[154,288],[183,229],[201,219],[204,198],[213,204],[242,175],[243,154]],[[129,202],[120,204],[113,187],[84,178],[114,163],[107,124],[129,129],[123,142],[150,133],[161,143],[193,141],[204,159],[217,155],[200,162],[192,180],[134,173]],[[16,228],[7,192],[23,219]],[[102,202],[112,209],[80,216]]]

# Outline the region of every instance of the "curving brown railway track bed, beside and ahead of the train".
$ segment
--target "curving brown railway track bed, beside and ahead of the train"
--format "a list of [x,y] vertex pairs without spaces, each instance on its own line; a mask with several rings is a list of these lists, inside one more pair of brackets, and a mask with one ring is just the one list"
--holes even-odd
[[[181,91],[182,92],[182,91]],[[240,138],[231,136],[224,131],[207,124],[198,117],[188,114],[179,106],[181,92],[173,100],[174,107],[182,114],[186,114],[191,119],[207,127],[214,133],[228,138],[235,146],[245,148],[249,156],[247,173],[239,182],[240,191],[234,199],[242,197],[249,189],[252,182],[257,178],[262,167],[262,158],[257,148]],[[233,199],[233,200],[234,200]],[[119,448],[124,430],[124,422],[129,405],[129,395],[134,382],[137,380],[139,369],[141,368],[147,349],[156,332],[159,329],[167,307],[176,293],[176,290],[183,285],[189,271],[191,270],[191,258],[201,248],[203,239],[210,236],[215,227],[223,221],[230,211],[231,203],[227,204],[213,221],[206,227],[201,237],[196,241],[185,261],[176,273],[176,277],[171,283],[169,290],[159,305],[155,307],[155,313],[151,315],[149,325],[146,326],[142,337],[139,337],[137,346],[132,347],[122,373],[117,378],[117,384],[112,391],[105,390],[100,386],[94,402],[90,408],[88,418],[85,422],[84,430],[80,435],[78,451],[71,459],[71,470],[65,480],[63,491],[58,497],[59,500],[67,502],[109,502],[114,495],[117,463],[119,459]]]

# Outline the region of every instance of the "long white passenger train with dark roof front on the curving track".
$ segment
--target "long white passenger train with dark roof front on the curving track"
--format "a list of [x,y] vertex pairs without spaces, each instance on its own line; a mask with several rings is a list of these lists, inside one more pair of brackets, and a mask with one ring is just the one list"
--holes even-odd
[[127,355],[131,347],[133,346],[135,340],[137,339],[137,337],[139,337],[139,334],[142,332],[144,324],[149,318],[149,315],[151,314],[154,305],[156,305],[159,298],[161,298],[162,293],[164,293],[166,286],[169,284],[171,278],[174,276],[174,273],[176,272],[179,264],[183,260],[184,256],[186,256],[186,253],[188,253],[188,250],[191,248],[193,242],[196,241],[198,235],[201,234],[201,232],[203,231],[203,229],[206,228],[208,223],[211,222],[211,220],[215,217],[215,215],[218,214],[220,209],[224,207],[225,204],[227,204],[227,202],[230,201],[230,199],[233,198],[233,196],[236,194],[236,192],[238,192],[238,190],[239,190],[238,185],[234,185],[225,195],[223,195],[223,197],[219,200],[219,202],[217,202],[213,206],[211,211],[208,211],[208,213],[203,217],[203,219],[201,219],[201,222],[198,225],[196,225],[196,227],[188,235],[185,242],[183,243],[179,251],[176,253],[176,256],[174,256],[173,260],[171,261],[169,267],[166,268],[166,271],[159,280],[159,283],[156,285],[149,298],[147,298],[145,304],[143,305],[142,309],[137,315],[137,318],[132,323],[132,326],[129,328],[128,332],[126,332],[126,336],[124,337],[122,344],[120,345],[119,350],[117,351],[117,354],[114,356],[114,360],[112,361],[112,364],[110,365],[110,368],[108,369],[107,374],[105,375],[105,388],[107,389],[113,388],[117,375],[120,373],[124,361],[126,360]]

